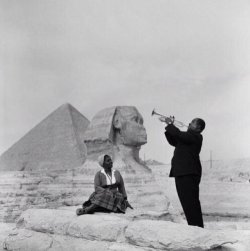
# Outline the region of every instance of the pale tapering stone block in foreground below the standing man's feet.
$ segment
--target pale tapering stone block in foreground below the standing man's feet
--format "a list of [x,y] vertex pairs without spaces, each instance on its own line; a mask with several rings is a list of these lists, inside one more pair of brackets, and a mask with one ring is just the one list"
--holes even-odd
[[139,220],[129,224],[125,236],[129,243],[164,250],[208,250],[237,240],[218,231],[168,221]]

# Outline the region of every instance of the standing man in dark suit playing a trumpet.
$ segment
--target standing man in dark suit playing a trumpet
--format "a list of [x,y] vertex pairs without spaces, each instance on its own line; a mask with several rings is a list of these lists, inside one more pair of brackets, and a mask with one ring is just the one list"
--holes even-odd
[[204,227],[199,200],[201,180],[200,151],[202,146],[201,132],[205,122],[196,118],[191,121],[186,132],[174,125],[173,118],[161,118],[166,122],[165,136],[168,143],[175,147],[169,176],[175,177],[175,185],[184,214],[189,225]]

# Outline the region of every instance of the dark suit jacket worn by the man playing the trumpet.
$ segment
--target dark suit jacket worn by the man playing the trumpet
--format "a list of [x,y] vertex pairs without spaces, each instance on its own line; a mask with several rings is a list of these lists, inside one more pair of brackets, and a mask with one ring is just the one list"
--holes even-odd
[[199,154],[203,140],[202,135],[192,130],[182,132],[173,124],[169,124],[165,129],[168,143],[175,147],[169,176],[177,177],[190,174],[201,176]]

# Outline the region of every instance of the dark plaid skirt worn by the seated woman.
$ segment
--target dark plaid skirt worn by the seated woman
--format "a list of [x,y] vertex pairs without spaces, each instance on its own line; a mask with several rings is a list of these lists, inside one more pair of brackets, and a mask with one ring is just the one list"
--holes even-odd
[[126,211],[126,202],[123,195],[118,191],[111,191],[110,189],[93,192],[89,199],[83,203],[83,207],[87,207],[90,204],[95,204],[115,213],[125,213]]

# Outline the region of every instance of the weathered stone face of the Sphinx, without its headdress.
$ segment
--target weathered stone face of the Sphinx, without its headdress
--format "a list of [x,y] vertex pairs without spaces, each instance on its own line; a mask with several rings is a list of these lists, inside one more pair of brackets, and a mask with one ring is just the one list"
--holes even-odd
[[113,125],[116,132],[116,143],[127,146],[141,146],[147,143],[143,118],[135,107],[118,107]]

